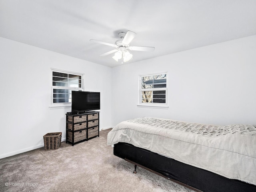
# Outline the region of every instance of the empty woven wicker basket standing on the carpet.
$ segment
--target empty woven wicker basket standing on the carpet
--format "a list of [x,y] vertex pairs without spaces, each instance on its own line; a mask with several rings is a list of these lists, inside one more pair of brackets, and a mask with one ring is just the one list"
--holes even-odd
[[58,149],[61,144],[62,132],[47,133],[44,135],[44,150]]

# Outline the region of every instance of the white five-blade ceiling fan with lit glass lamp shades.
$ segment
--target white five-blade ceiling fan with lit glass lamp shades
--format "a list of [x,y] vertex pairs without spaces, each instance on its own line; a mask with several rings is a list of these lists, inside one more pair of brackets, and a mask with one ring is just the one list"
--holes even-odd
[[106,56],[106,55],[115,53],[114,56],[112,57],[114,60],[118,61],[123,57],[124,62],[127,62],[132,58],[132,54],[130,54],[128,50],[131,50],[131,51],[154,51],[155,50],[154,47],[130,46],[130,42],[134,39],[135,35],[136,33],[132,31],[127,31],[127,33],[120,32],[118,33],[118,36],[120,39],[118,39],[114,44],[98,41],[95,39],[91,39],[90,41],[116,48],[114,50],[101,54],[100,56]]

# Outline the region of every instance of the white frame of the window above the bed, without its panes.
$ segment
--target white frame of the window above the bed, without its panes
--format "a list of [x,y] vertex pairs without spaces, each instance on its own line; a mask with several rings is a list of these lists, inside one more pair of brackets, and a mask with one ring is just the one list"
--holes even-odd
[[[161,75],[161,74],[166,74],[166,88],[148,88],[148,89],[142,89],[142,77],[146,76],[154,76],[154,75]],[[152,74],[142,74],[139,75],[138,77],[138,107],[146,107],[146,108],[168,108],[168,72],[160,72],[160,73],[152,73]],[[142,91],[159,91],[159,90],[165,90],[165,96],[166,96],[166,102],[165,103],[146,103],[142,102],[141,98],[141,92]]]

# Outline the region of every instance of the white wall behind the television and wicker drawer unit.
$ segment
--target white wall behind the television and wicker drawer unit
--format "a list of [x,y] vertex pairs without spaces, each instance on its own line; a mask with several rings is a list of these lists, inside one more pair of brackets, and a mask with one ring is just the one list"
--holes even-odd
[[110,128],[112,68],[0,38],[0,158],[44,146],[48,132],[66,138],[66,112],[52,109],[51,68],[85,74],[86,91],[101,93],[100,129]]

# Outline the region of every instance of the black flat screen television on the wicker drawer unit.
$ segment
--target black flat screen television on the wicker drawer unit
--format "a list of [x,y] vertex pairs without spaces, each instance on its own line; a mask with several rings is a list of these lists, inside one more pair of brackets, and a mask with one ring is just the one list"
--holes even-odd
[[72,112],[100,109],[100,92],[72,91]]

